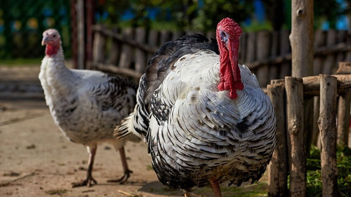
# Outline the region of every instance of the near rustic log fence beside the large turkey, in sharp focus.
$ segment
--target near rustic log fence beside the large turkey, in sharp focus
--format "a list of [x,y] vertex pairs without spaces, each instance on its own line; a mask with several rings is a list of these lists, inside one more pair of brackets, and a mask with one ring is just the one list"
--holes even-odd
[[[338,73],[350,73],[350,67]],[[349,63],[350,64],[350,63]],[[337,185],[336,145],[347,146],[350,117],[351,75],[324,75],[272,80],[267,86],[277,117],[277,144],[269,166],[270,196],[306,196],[306,135],[304,134],[304,100],[319,96],[322,192],[324,197],[339,195]],[[348,96],[345,96],[348,95]],[[337,96],[339,102],[337,107]],[[336,122],[337,117],[337,122]],[[287,154],[289,153],[289,154]],[[290,167],[290,169],[289,169]],[[287,178],[290,174],[288,195]]]

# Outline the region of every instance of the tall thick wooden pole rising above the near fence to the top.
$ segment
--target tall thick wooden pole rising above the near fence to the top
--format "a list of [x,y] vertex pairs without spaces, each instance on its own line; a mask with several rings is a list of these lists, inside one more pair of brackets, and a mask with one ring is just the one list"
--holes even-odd
[[[313,0],[291,1],[291,34],[289,36],[293,77],[313,75]],[[304,102],[306,152],[310,150],[313,130],[313,98]]]

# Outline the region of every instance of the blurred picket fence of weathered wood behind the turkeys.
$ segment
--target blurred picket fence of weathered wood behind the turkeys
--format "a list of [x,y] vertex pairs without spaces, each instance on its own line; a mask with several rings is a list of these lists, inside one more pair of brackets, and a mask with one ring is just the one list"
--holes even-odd
[[[165,42],[182,35],[200,33],[215,38],[215,32],[146,31],[143,28],[109,29],[93,26],[93,60],[87,67],[125,74],[138,79],[148,60]],[[243,33],[239,45],[239,63],[257,75],[261,87],[272,79],[291,75],[291,48],[288,30]],[[339,61],[351,61],[351,39],[346,31],[315,33],[314,74],[331,74]]]

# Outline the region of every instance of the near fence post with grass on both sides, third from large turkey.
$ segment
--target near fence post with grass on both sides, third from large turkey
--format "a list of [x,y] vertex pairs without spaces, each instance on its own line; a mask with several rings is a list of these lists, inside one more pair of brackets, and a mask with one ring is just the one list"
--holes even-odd
[[338,196],[338,171],[336,167],[336,89],[337,79],[320,75],[320,113],[318,126],[321,135],[323,197]]

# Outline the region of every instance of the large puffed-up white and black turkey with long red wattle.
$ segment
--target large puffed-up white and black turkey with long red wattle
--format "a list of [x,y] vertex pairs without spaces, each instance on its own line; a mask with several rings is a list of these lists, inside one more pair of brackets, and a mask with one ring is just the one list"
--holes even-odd
[[[158,179],[189,191],[261,178],[276,140],[270,98],[238,64],[242,29],[230,18],[217,43],[195,34],[165,43],[148,62],[137,105],[115,136],[144,136]],[[219,48],[219,51],[218,51]]]

